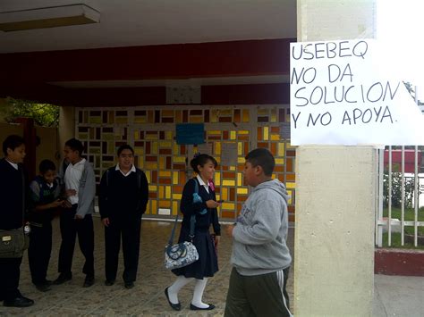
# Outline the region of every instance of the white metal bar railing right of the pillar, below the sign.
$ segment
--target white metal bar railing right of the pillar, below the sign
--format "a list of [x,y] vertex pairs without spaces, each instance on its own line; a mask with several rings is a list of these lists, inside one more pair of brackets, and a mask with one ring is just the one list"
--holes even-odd
[[[415,88],[415,102],[418,104],[418,94],[417,94],[417,88]],[[423,188],[422,185],[420,185],[420,179],[424,179],[424,173],[421,173],[420,176],[420,168],[421,168],[421,162],[418,162],[419,158],[419,147],[414,146],[413,153],[414,153],[414,171],[405,173],[405,146],[401,146],[401,163],[400,163],[400,173],[401,173],[401,219],[393,219],[392,217],[392,197],[393,197],[393,175],[394,171],[393,169],[393,153],[394,149],[392,146],[387,146],[386,150],[388,151],[388,160],[387,160],[387,169],[385,171],[385,163],[384,163],[384,156],[385,156],[385,150],[378,150],[378,181],[377,181],[377,213],[376,213],[376,246],[381,247],[383,246],[383,230],[386,228],[387,230],[387,245],[392,246],[392,236],[394,231],[400,231],[401,234],[401,246],[404,246],[405,244],[405,233],[404,229],[405,227],[413,227],[413,245],[418,246],[418,237],[419,227],[424,227],[424,221],[418,221],[419,220],[419,211],[420,211],[420,189]],[[395,150],[399,151],[399,149]],[[411,153],[411,149],[409,150]],[[384,179],[385,179],[385,172],[387,173],[386,181],[387,181],[387,189],[386,193],[384,192],[385,186],[384,186]],[[405,221],[405,181],[406,180],[413,179],[413,213],[414,213],[414,219],[413,221]],[[421,180],[421,183],[424,180]],[[383,215],[384,210],[384,196],[387,197],[387,217],[385,218]],[[424,194],[423,194],[424,196]],[[421,213],[424,213],[422,211]]]

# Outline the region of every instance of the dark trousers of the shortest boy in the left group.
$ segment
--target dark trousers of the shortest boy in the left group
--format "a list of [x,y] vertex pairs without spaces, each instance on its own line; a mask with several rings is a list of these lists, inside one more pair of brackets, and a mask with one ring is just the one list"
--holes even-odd
[[48,263],[52,253],[52,223],[43,223],[42,227],[31,226],[28,260],[32,283],[40,284],[46,281]]

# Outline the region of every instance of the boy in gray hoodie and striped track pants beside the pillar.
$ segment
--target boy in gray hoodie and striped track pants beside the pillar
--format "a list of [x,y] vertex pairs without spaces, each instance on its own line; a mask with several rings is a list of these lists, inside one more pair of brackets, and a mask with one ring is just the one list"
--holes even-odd
[[265,148],[246,156],[244,179],[253,190],[237,221],[227,229],[233,237],[233,271],[225,317],[292,316],[285,290],[292,263],[285,243],[289,196],[284,184],[272,179],[275,165]]

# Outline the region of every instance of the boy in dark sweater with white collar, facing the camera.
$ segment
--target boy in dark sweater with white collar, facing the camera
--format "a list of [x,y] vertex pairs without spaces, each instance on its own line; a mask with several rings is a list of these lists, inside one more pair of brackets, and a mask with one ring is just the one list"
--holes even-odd
[[123,282],[133,288],[137,279],[141,216],[148,204],[148,179],[134,166],[134,150],[118,149],[118,163],[100,181],[99,210],[105,225],[106,286],[114,284],[118,255],[123,240]]

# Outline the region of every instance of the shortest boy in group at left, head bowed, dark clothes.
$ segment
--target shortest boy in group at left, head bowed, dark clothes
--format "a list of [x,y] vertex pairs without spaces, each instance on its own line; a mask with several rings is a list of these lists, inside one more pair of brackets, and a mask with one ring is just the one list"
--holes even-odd
[[56,208],[64,203],[60,199],[61,187],[56,177],[55,163],[43,160],[39,175],[30,184],[30,247],[28,259],[32,283],[41,292],[50,290],[47,269],[52,252],[52,220]]

